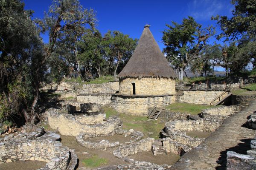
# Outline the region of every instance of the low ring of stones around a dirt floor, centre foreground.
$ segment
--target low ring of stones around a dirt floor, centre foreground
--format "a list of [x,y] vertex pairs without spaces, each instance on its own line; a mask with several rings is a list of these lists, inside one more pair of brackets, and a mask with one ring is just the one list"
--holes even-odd
[[[144,134],[139,132],[139,131],[130,132],[130,131],[124,130],[124,129],[115,130],[113,133],[109,133],[109,134],[106,134],[106,135],[103,135],[103,136],[112,136],[112,135],[122,135],[122,136],[125,136],[125,137],[126,136],[132,136],[134,139],[130,140],[130,142],[125,142],[126,144],[138,141],[138,140],[142,139],[143,136],[144,136]],[[76,140],[79,144],[81,144],[84,147],[95,148],[95,149],[97,149],[97,148],[117,147],[117,146],[122,145],[122,143],[119,143],[119,141],[108,142],[106,140],[102,140],[101,142],[90,142],[89,140],[87,140],[89,138],[94,138],[94,137],[97,137],[97,136],[99,136],[99,135],[81,133],[78,136],[76,136]]]

